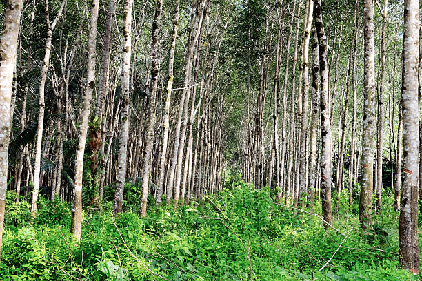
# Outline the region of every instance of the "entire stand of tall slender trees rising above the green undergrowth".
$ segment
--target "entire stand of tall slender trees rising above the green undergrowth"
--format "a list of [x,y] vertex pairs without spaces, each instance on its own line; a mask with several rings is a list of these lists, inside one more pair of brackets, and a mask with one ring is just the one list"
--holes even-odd
[[334,191],[359,197],[363,229],[390,187],[417,271],[419,3],[322,4],[8,0],[0,231],[8,188],[33,216],[40,193],[72,202],[80,240],[83,205],[120,213],[125,183],[139,216],[241,174],[294,207],[321,198],[331,223]]

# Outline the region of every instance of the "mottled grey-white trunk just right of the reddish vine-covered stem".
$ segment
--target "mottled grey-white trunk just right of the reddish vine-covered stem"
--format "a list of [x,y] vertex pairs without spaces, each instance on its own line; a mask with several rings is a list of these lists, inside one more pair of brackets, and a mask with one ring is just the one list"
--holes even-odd
[[123,207],[123,192],[125,190],[128,134],[130,120],[130,58],[132,56],[132,6],[133,0],[125,1],[123,10],[123,67],[121,72],[121,113],[120,113],[120,136],[119,136],[119,159],[117,160],[116,192],[114,193],[114,214],[121,213]]

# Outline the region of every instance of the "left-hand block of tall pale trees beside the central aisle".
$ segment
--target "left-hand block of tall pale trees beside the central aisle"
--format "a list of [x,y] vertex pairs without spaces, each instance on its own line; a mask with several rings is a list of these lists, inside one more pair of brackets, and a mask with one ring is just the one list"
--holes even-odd
[[[9,166],[6,153],[2,169],[3,203],[6,186],[31,196],[33,216],[39,193],[72,202],[72,233],[80,240],[83,205],[100,206],[111,185],[115,214],[123,210],[125,183],[139,185],[139,216],[146,216],[148,195],[159,205],[164,191],[167,204],[174,199],[176,208],[179,201],[183,205],[221,189],[226,107],[220,92],[228,77],[217,62],[230,10],[207,0],[183,3],[183,10],[180,1],[173,4],[164,11],[170,13],[167,20],[172,16],[170,26],[161,19],[162,1],[128,0],[123,10],[110,1],[103,7],[103,25],[97,0],[90,8],[86,1],[8,3],[8,13],[23,17],[13,17],[15,30],[8,28],[9,14],[3,18],[15,48],[8,51],[14,54],[7,65],[12,74],[4,75],[20,76],[10,82],[13,89],[5,86],[11,91],[5,94],[8,111],[2,112],[9,121],[3,126],[5,152],[11,142]],[[44,31],[39,41],[46,40],[39,72],[42,48],[34,29]],[[174,89],[174,81],[181,87]],[[18,119],[21,126],[12,130]]]

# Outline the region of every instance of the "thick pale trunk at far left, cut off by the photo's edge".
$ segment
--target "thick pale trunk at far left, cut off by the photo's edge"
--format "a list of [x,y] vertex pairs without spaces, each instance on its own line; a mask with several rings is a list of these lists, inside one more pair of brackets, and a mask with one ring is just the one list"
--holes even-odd
[[8,0],[4,14],[4,29],[0,39],[0,249],[8,189],[8,149],[10,138],[10,103],[12,100],[13,71],[16,66],[19,23],[22,0]]

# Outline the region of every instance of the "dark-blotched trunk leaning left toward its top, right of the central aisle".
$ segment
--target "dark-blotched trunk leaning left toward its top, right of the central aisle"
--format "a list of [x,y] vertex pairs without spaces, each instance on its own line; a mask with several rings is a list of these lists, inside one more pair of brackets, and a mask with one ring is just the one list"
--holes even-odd
[[321,76],[321,200],[323,217],[331,223],[331,116],[328,97],[330,89],[328,88],[327,37],[323,26],[321,0],[314,1],[314,18],[319,43],[319,73]]

